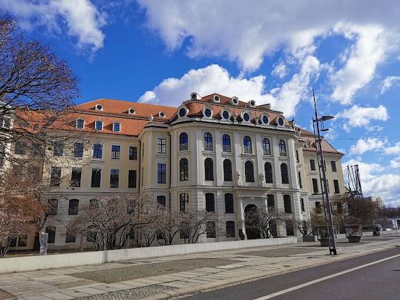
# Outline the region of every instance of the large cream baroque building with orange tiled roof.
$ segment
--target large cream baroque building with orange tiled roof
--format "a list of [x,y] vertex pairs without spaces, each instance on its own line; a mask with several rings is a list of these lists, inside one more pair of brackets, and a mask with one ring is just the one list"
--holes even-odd
[[[226,234],[199,242],[256,238],[244,225],[254,206],[299,221],[321,202],[313,133],[270,105],[191,93],[179,107],[98,99],[75,108],[64,129],[80,135],[45,149],[52,160],[43,181],[55,207],[46,227],[50,247],[76,248],[82,241],[66,238],[66,224],[102,195],[147,193],[175,211],[215,211]],[[325,140],[323,150],[330,193],[343,193],[343,154]],[[283,223],[275,234],[297,232]]]

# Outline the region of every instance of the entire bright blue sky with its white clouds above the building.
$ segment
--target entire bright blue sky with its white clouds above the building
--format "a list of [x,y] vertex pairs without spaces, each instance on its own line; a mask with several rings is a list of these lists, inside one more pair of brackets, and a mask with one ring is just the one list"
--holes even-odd
[[360,165],[366,195],[400,204],[400,8],[393,2],[0,0],[96,98],[179,105],[191,91],[272,103]]

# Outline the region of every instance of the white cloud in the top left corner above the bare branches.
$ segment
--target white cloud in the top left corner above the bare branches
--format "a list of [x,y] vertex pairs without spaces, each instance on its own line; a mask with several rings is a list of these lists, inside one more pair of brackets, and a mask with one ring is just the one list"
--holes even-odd
[[103,47],[105,14],[90,0],[0,0],[0,7],[15,15],[23,27],[45,27],[60,33],[66,24],[68,35],[77,38],[79,47],[96,51]]

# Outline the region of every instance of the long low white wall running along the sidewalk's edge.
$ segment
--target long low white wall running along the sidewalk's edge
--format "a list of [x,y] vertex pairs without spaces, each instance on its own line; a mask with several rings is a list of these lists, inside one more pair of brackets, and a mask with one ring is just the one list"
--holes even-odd
[[106,262],[121,262],[123,260],[139,260],[142,258],[184,255],[219,250],[234,250],[261,246],[277,246],[289,243],[297,243],[297,237],[221,241],[216,243],[190,243],[172,246],[128,248],[121,250],[54,254],[45,256],[6,257],[0,260],[0,273],[78,267],[91,264],[104,264]]

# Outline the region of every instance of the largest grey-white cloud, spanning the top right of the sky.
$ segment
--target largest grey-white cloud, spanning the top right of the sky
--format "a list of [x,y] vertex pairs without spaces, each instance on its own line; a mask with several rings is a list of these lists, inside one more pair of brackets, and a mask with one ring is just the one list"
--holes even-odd
[[[295,57],[313,54],[317,37],[328,36],[338,24],[350,24],[348,29],[359,33],[359,38],[342,73],[350,77],[351,67],[361,61],[367,63],[368,70],[348,84],[336,79],[334,96],[342,101],[349,101],[369,82],[374,66],[383,57],[384,45],[376,44],[382,41],[381,33],[399,29],[397,3],[382,6],[373,0],[295,1],[290,6],[279,0],[138,2],[145,8],[148,27],[159,34],[169,50],[185,45],[191,57],[227,57],[244,70],[257,69],[266,55],[277,50]],[[340,88],[342,84],[346,87]]]

